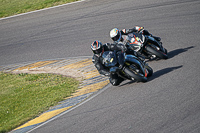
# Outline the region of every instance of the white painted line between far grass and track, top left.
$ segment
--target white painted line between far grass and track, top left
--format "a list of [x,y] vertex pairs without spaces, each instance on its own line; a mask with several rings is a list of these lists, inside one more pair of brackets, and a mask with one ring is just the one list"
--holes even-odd
[[26,14],[31,14],[31,13],[35,13],[35,12],[40,12],[40,11],[44,11],[44,10],[48,10],[48,9],[53,9],[53,8],[57,8],[57,7],[62,7],[62,6],[66,6],[66,5],[71,5],[71,4],[75,4],[75,3],[79,3],[79,2],[83,2],[83,1],[85,1],[85,0],[75,1],[75,2],[71,2],[71,3],[53,6],[53,7],[49,7],[49,8],[44,8],[44,9],[40,9],[40,10],[35,10],[35,11],[27,12],[27,13],[17,14],[17,15],[10,16],[10,17],[0,18],[0,20],[14,18],[14,17],[18,17],[18,16],[22,16],[22,15],[26,15]]

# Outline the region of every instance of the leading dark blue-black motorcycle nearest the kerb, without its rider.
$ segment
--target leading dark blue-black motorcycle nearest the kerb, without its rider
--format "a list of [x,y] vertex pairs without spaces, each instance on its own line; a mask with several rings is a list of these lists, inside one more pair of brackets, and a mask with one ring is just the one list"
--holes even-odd
[[134,55],[123,53],[120,63],[115,51],[105,51],[102,57],[103,64],[110,69],[110,73],[117,73],[124,79],[147,82],[147,77],[153,74],[153,69]]

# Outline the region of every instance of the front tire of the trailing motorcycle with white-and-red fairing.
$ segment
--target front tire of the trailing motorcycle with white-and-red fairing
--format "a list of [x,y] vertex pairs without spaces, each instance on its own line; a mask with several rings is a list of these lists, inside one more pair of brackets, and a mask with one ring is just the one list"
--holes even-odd
[[149,45],[146,46],[146,50],[150,53],[152,53],[153,55],[156,55],[158,58],[160,59],[168,59],[168,56],[167,54],[165,54],[164,52],[162,51],[159,51]]

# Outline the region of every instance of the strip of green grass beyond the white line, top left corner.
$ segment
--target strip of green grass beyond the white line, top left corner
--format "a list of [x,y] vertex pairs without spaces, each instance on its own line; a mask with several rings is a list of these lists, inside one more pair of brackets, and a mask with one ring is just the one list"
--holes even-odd
[[0,0],[0,17],[39,10],[78,0]]

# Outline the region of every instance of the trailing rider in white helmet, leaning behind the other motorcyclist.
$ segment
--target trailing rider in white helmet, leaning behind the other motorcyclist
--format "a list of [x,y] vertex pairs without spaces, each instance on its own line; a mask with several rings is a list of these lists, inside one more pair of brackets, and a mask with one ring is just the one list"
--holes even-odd
[[[133,50],[130,49],[128,47],[128,45],[126,45],[126,44],[127,44],[127,35],[129,33],[133,33],[133,32],[142,33],[143,35],[146,35],[148,42],[150,42],[150,43],[153,43],[158,46],[162,45],[162,42],[160,42],[161,41],[160,37],[153,36],[151,33],[149,33],[147,30],[145,30],[144,27],[139,27],[139,26],[135,26],[132,29],[123,29],[123,30],[114,28],[110,31],[110,38],[113,40],[113,42],[115,44],[122,43],[125,46],[127,46],[127,54],[132,54]],[[138,56],[140,56],[144,59],[144,57],[142,55],[140,55],[139,53],[137,53],[137,54],[138,54]]]

